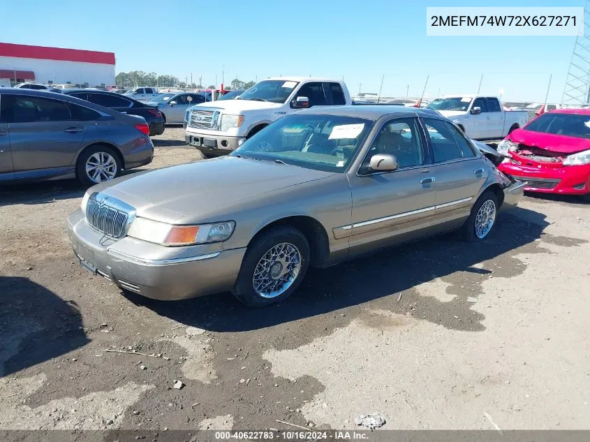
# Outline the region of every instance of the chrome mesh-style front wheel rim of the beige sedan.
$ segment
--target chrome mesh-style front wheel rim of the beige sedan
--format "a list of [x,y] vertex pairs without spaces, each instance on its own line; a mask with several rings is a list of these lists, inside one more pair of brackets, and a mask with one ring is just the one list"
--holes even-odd
[[293,244],[281,242],[256,264],[252,285],[257,295],[273,298],[285,293],[301,271],[301,253]]

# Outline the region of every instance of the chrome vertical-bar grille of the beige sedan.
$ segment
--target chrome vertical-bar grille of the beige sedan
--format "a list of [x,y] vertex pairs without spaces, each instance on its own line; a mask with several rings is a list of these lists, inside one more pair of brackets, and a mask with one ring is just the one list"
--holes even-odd
[[[112,198],[114,200],[114,198]],[[128,212],[109,204],[109,197],[101,197],[94,193],[88,199],[86,219],[90,226],[100,233],[113,238],[120,238],[126,232]]]

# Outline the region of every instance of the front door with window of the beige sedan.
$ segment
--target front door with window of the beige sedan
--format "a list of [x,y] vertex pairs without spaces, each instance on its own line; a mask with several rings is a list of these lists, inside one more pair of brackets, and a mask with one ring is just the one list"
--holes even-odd
[[[369,170],[374,154],[395,156],[397,170]],[[417,118],[385,123],[359,173],[350,175],[353,197],[350,252],[362,253],[425,235],[434,211],[434,182]]]

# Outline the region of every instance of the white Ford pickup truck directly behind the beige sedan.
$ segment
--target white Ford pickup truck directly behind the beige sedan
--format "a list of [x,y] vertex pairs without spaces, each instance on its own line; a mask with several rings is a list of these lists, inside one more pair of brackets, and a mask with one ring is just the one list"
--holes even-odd
[[228,154],[260,129],[297,110],[350,105],[340,80],[309,77],[267,78],[235,100],[210,101],[186,110],[186,143],[205,156]]

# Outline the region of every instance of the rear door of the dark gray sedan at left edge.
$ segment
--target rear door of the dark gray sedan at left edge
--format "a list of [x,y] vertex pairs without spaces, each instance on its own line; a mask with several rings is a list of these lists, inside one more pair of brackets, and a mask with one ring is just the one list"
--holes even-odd
[[[15,174],[67,168],[80,149],[87,126],[73,119],[68,104],[40,96],[12,95],[10,149]],[[50,171],[49,171],[50,172]]]

